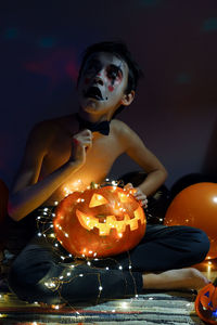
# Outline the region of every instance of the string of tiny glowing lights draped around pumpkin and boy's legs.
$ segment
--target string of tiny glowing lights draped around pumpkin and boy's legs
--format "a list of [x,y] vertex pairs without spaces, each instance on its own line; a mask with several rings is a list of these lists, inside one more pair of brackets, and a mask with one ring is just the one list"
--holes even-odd
[[[98,188],[99,186],[100,187],[103,187],[103,186],[107,186],[107,185],[112,185],[114,186],[114,190],[116,190],[116,186],[124,186],[124,183],[122,181],[119,182],[116,182],[116,181],[111,181],[108,179],[105,180],[105,182],[101,185],[99,184],[91,184],[91,186],[94,186],[94,188]],[[124,188],[125,191],[125,188]],[[65,192],[66,188],[65,188]],[[133,190],[128,190],[128,192],[130,194],[133,193]],[[129,194],[126,195],[126,197],[128,196]],[[98,202],[102,200],[103,199],[98,196],[95,197],[95,199]],[[120,200],[123,199],[123,202],[126,199],[125,196],[122,196],[120,197]],[[94,203],[92,202],[92,205]],[[99,266],[94,266],[94,263],[92,264],[92,261],[97,262],[97,261],[103,261],[103,263],[105,264],[106,262],[110,262],[112,261],[113,263],[116,264],[116,268],[119,270],[119,271],[123,271],[123,265],[115,259],[115,258],[112,258],[112,257],[106,257],[106,258],[97,258],[97,252],[93,252],[93,258],[92,259],[89,259],[86,257],[85,255],[85,248],[84,248],[84,255],[82,255],[82,259],[80,258],[76,258],[76,257],[73,257],[72,253],[68,253],[61,245],[61,243],[58,240],[58,238],[55,237],[55,233],[53,231],[53,218],[55,217],[55,213],[54,213],[54,208],[59,205],[58,202],[54,203],[54,207],[42,207],[42,208],[39,208],[39,211],[40,211],[40,216],[37,217],[37,229],[38,229],[38,236],[42,236],[49,244],[52,245],[53,247],[53,251],[54,253],[58,255],[58,257],[63,261],[63,263],[66,261],[69,260],[69,262],[72,263],[71,265],[65,265],[65,269],[63,270],[63,272],[56,276],[56,277],[51,277],[51,278],[48,278],[44,281],[43,285],[52,290],[53,292],[56,291],[60,296],[60,300],[63,301],[64,303],[66,303],[67,306],[69,306],[74,311],[76,311],[76,309],[67,301],[65,300],[64,297],[62,297],[61,295],[61,290],[62,290],[62,287],[63,285],[67,285],[69,283],[72,283],[73,281],[75,281],[77,277],[82,277],[85,276],[86,274],[82,274],[82,273],[79,273],[79,274],[75,274],[73,276],[73,270],[76,269],[76,266],[80,265],[80,264],[85,264],[87,263],[87,265],[92,269],[93,271],[99,269]],[[136,213],[137,214],[137,213]],[[126,219],[126,218],[125,218]],[[137,219],[137,216],[136,216],[136,219]],[[125,220],[127,221],[127,219]],[[113,219],[108,220],[108,222],[114,222]],[[130,223],[130,220],[128,220],[128,222]],[[102,223],[103,225],[103,223]],[[122,227],[122,226],[120,226]],[[130,229],[131,229],[131,225],[130,225]],[[123,231],[123,230],[119,230],[119,231]],[[66,235],[67,236],[67,235]],[[133,287],[135,287],[135,298],[138,297],[138,292],[137,292],[137,284],[136,284],[136,280],[133,277],[133,274],[132,274],[132,264],[131,264],[131,260],[130,260],[130,252],[127,251],[127,255],[128,255],[128,260],[129,260],[129,265],[128,265],[128,270],[129,270],[129,273],[131,275],[131,278],[132,278],[132,282],[133,282]],[[108,265],[104,265],[103,268],[100,268],[100,269],[104,269],[106,271],[110,270],[110,266]],[[94,274],[97,277],[98,277],[98,296],[95,297],[95,303],[99,303],[100,301],[100,298],[101,298],[101,294],[103,291],[103,286],[102,286],[102,283],[101,283],[101,275],[100,273],[88,273],[89,274]],[[125,283],[126,283],[126,286],[127,286],[127,280],[126,277],[124,276],[125,278]],[[132,299],[135,299],[132,298]],[[131,300],[132,301],[132,300]],[[130,303],[131,303],[130,301]],[[38,302],[37,302],[38,303]],[[127,308],[127,303],[125,303],[125,306],[123,308]],[[61,306],[60,304],[55,304],[55,306],[52,306],[52,308],[54,309],[60,309]],[[113,310],[112,312],[115,312],[115,310]],[[79,315],[79,312],[76,311],[76,314]]]

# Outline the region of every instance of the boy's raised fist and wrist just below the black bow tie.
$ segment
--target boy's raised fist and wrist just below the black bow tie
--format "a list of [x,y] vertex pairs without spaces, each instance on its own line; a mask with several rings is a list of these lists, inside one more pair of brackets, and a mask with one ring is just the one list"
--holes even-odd
[[69,161],[77,161],[84,165],[86,153],[92,146],[92,132],[88,129],[80,131],[73,136],[72,153]]

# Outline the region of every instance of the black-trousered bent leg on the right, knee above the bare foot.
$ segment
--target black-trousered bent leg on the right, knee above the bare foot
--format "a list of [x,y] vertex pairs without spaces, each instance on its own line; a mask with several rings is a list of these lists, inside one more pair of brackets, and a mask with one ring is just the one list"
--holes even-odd
[[[117,264],[123,270],[149,272],[188,268],[203,261],[209,249],[207,235],[195,227],[148,225],[140,244],[114,258],[108,264]],[[104,263],[104,261],[103,261]],[[101,261],[94,262],[95,266]]]

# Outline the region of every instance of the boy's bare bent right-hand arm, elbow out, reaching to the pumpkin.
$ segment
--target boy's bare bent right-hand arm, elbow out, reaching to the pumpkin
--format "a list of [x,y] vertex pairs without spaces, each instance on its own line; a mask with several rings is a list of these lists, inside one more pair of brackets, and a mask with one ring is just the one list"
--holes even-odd
[[150,196],[165,182],[167,171],[156,156],[145,147],[136,132],[123,122],[119,130],[125,153],[148,173],[148,177],[139,185],[139,188],[146,196]]

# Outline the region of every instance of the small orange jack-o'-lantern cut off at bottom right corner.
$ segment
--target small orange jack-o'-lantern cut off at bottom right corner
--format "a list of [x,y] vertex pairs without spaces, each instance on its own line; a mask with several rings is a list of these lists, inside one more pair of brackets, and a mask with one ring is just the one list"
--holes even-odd
[[202,288],[195,300],[197,315],[208,324],[217,324],[217,278]]

